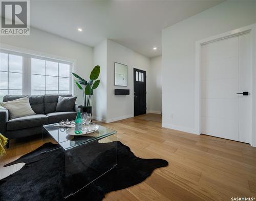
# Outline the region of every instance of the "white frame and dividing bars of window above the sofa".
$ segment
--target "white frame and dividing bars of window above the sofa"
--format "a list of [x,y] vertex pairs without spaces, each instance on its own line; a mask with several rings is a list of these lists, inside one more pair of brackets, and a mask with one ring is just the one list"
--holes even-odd
[[[27,53],[20,53],[20,52],[15,52],[12,50],[5,50],[5,49],[0,49],[1,53],[5,53],[5,54],[12,54],[12,55],[17,55],[17,56],[22,56],[23,57],[23,69],[22,69],[22,95],[31,95],[32,92],[32,79],[31,79],[31,68],[32,68],[32,63],[31,60],[32,58],[35,59],[41,59],[41,60],[46,60],[46,61],[53,61],[53,62],[57,62],[58,63],[58,68],[59,68],[59,63],[63,63],[63,64],[68,64],[70,66],[70,75],[69,75],[69,93],[73,95],[73,76],[72,76],[72,72],[74,70],[74,63],[72,61],[65,61],[65,60],[61,60],[61,59],[54,59],[54,58],[49,58],[46,56],[38,56],[38,55],[33,55],[33,54],[27,54]],[[9,57],[9,56],[8,56]],[[8,63],[8,72],[9,72],[9,63]],[[47,76],[47,75],[45,75]],[[63,77],[63,76],[59,76],[59,71],[58,71],[58,77]],[[29,81],[27,81],[29,80]],[[8,80],[8,85],[9,85],[9,80]],[[58,89],[59,89],[59,82],[58,82]],[[8,88],[9,90],[9,88]],[[44,91],[44,90],[41,90]],[[47,90],[45,90],[47,92]],[[58,90],[61,91],[61,90]]]

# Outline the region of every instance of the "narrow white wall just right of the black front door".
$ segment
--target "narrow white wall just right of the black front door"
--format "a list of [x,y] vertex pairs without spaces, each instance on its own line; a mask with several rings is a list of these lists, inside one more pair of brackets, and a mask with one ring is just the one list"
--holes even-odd
[[150,59],[150,71],[147,76],[148,105],[147,113],[161,114],[162,111],[162,56]]

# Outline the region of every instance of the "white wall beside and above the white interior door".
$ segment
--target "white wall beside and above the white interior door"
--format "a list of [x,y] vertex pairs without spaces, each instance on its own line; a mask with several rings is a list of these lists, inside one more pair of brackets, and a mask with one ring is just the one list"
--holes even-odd
[[255,22],[255,1],[226,1],[162,31],[163,127],[196,133],[195,42]]

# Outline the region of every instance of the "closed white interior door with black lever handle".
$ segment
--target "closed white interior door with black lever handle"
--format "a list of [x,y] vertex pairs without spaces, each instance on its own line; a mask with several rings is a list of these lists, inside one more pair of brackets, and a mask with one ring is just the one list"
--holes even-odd
[[250,142],[251,61],[249,33],[201,46],[201,133]]

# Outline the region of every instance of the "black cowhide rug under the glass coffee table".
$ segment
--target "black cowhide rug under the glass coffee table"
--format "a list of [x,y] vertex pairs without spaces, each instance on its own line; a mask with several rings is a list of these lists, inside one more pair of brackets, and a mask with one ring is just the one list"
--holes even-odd
[[[25,166],[12,175],[0,180],[1,200],[63,200],[65,178],[65,154],[61,149],[45,152],[59,145],[46,143],[36,150],[24,155],[18,160],[7,164],[25,163]],[[106,149],[107,148],[107,149]],[[134,155],[129,147],[117,142],[118,165],[98,180],[82,189],[68,200],[102,200],[108,192],[124,189],[136,185],[150,176],[156,168],[168,165],[162,159],[140,159]],[[97,151],[97,158],[77,149],[79,157],[70,157],[79,173],[71,177],[70,186],[84,184],[95,174],[95,170],[107,167],[115,160],[116,143],[97,143],[93,150]],[[103,151],[104,150],[104,151]],[[105,151],[108,150],[108,151]],[[82,161],[90,161],[90,168]],[[69,167],[72,169],[72,167]],[[67,169],[67,166],[66,166]],[[95,176],[95,175],[94,175]]]

